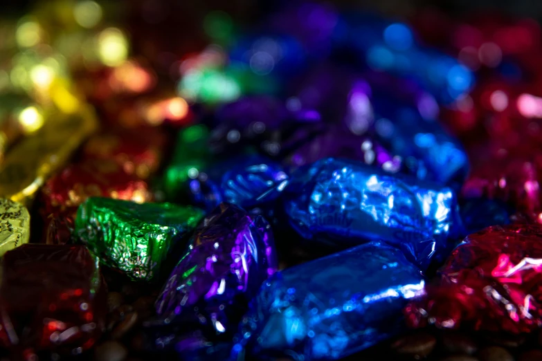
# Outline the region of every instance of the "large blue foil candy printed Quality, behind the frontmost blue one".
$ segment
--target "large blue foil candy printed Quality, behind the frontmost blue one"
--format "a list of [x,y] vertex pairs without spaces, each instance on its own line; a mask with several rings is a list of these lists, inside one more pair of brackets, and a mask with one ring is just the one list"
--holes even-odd
[[327,158],[299,169],[284,198],[304,239],[333,248],[382,240],[422,268],[447,256],[461,228],[452,189],[352,160]]

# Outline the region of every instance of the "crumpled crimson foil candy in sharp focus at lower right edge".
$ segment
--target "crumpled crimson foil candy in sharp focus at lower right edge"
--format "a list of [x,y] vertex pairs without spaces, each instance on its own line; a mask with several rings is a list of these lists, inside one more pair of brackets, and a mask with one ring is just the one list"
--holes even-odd
[[530,332],[542,326],[542,226],[492,226],[471,234],[409,304],[409,326]]

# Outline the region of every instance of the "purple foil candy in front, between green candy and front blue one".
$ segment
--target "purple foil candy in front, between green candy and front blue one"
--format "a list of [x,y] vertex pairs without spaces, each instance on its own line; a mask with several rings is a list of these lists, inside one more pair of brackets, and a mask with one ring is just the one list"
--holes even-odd
[[[262,282],[277,270],[271,226],[222,203],[199,225],[156,301],[165,324],[213,339],[231,335]],[[192,326],[188,326],[192,324]],[[183,351],[177,344],[177,351]]]

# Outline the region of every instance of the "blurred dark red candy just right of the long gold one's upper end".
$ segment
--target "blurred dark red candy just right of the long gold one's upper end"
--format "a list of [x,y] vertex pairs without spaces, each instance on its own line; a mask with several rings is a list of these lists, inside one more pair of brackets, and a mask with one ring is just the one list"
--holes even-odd
[[165,144],[165,133],[156,128],[111,131],[92,136],[83,158],[114,160],[127,174],[147,179],[159,169]]

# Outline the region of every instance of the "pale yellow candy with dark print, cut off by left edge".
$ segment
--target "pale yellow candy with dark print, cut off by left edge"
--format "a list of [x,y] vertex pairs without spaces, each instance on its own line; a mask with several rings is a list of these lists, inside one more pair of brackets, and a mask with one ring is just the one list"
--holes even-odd
[[0,198],[0,257],[30,239],[30,214],[24,205]]

